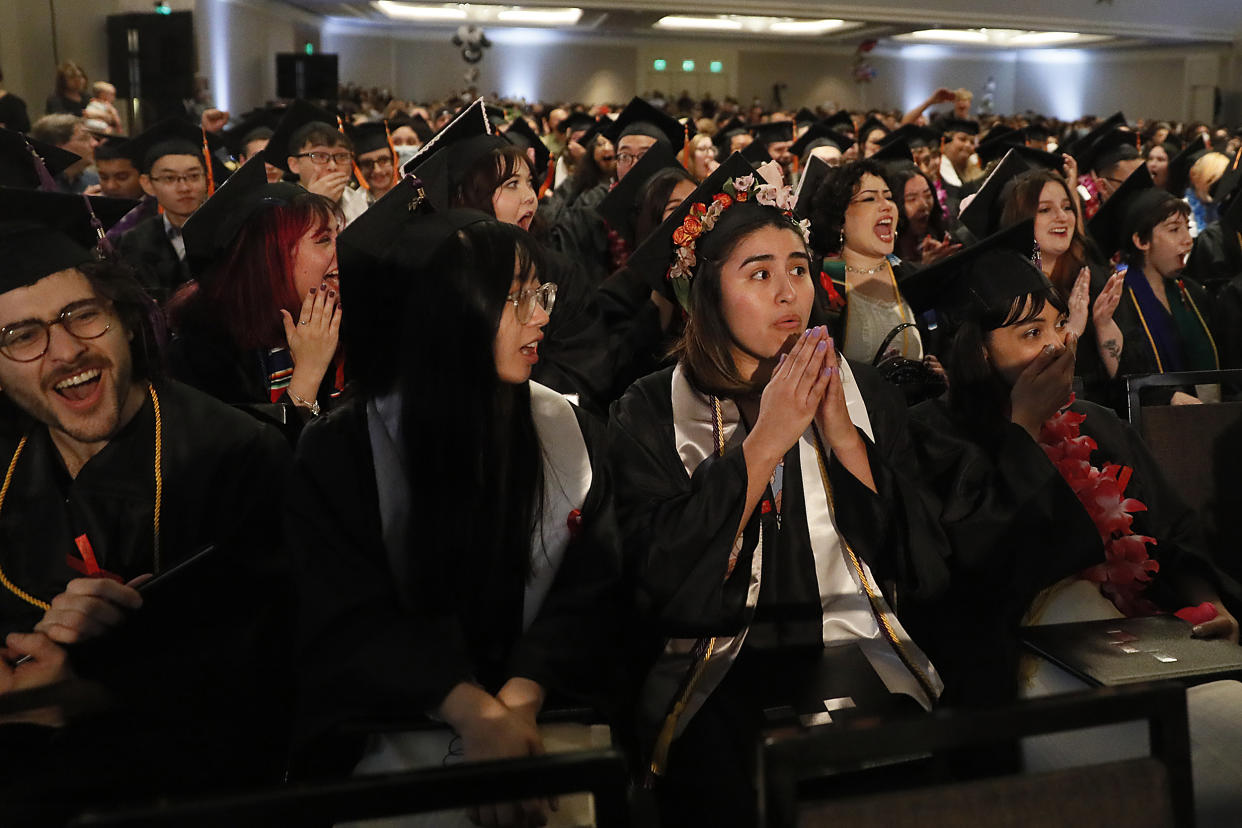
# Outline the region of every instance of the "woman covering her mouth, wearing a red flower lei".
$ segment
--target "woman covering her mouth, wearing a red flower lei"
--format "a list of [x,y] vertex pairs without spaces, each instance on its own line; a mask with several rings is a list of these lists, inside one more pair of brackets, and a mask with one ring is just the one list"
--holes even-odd
[[[951,587],[932,605],[907,606],[909,628],[941,669],[946,704],[1086,688],[1021,655],[1022,626],[1176,612],[1195,637],[1238,641],[1232,613],[1242,593],[1205,555],[1194,511],[1136,432],[1072,396],[1078,340],[1064,298],[1030,259],[1032,241],[1026,220],[905,288],[917,310],[935,308],[953,331],[948,400],[910,411],[919,468],[941,498]],[[1200,824],[1205,797],[1222,791],[1232,791],[1233,816],[1211,824],[1236,824],[1242,685],[1212,683],[1187,698]],[[1041,740],[1027,746],[1026,765],[1054,766],[1058,754],[1072,763],[1117,758],[1126,739],[1110,730]]]

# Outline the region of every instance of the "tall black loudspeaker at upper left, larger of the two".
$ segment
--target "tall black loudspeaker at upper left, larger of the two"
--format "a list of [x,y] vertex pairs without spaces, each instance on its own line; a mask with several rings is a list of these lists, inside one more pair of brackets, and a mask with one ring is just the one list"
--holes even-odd
[[108,79],[118,102],[138,102],[142,124],[185,114],[195,65],[193,12],[108,16]]

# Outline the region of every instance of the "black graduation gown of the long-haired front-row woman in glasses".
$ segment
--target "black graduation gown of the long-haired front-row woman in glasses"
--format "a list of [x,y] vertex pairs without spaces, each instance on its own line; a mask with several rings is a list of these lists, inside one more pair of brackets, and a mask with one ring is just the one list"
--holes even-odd
[[350,400],[307,427],[284,513],[299,597],[299,773],[348,773],[363,747],[361,731],[349,725],[419,722],[460,682],[486,683],[484,674],[534,679],[549,699],[612,706],[619,535],[601,428],[575,415],[592,461],[582,531],[530,627],[496,631],[503,664],[469,652],[462,618],[411,611],[399,596],[380,534],[365,402]]

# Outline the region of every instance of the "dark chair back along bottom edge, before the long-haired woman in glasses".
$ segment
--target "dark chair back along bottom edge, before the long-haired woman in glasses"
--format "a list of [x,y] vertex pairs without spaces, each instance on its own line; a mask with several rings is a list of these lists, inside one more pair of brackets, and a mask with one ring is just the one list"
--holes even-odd
[[589,792],[596,826],[628,826],[625,761],[614,750],[477,762],[406,773],[307,782],[270,791],[159,802],[84,813],[72,828],[195,828],[217,826],[330,826],[488,802]]

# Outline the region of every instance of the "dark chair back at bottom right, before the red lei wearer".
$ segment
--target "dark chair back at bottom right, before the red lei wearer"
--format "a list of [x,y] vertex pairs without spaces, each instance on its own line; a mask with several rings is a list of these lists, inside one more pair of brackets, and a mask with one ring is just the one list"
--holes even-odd
[[[863,796],[807,798],[806,783],[898,757],[986,750],[1025,736],[1146,720],[1151,755],[1046,773]],[[1105,688],[987,710],[941,709],[924,718],[854,719],[771,736],[760,749],[760,807],[768,828],[1035,828],[1191,826],[1194,799],[1185,690],[1172,683]]]

